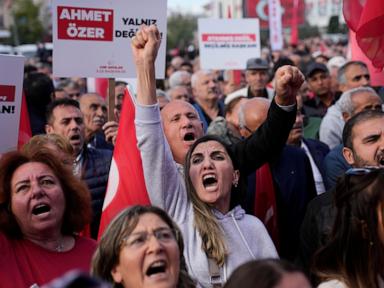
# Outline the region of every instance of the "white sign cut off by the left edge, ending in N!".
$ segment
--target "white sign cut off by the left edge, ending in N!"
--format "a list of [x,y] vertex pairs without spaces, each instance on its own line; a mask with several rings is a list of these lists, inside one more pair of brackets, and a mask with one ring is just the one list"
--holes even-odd
[[0,154],[17,148],[24,57],[0,55]]

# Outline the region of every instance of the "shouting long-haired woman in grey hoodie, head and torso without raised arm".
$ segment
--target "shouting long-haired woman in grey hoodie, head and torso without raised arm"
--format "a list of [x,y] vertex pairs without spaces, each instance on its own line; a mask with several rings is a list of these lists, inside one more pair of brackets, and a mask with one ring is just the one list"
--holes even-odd
[[201,286],[223,285],[249,260],[278,257],[261,221],[239,205],[239,170],[221,138],[207,135],[196,140],[184,171],[187,191],[174,195],[178,207],[169,208],[176,208],[189,273]]

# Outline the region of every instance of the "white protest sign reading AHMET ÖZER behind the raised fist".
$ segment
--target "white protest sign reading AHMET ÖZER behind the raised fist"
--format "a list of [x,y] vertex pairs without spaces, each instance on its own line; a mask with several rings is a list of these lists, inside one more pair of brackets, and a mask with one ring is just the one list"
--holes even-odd
[[140,25],[156,24],[156,78],[164,78],[167,0],[54,0],[52,11],[55,76],[135,78],[131,39]]

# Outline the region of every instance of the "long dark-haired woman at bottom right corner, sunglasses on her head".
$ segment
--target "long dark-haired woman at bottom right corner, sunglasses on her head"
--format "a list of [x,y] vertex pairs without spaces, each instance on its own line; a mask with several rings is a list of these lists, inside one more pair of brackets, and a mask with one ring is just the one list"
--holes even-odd
[[336,220],[317,252],[319,288],[384,287],[384,169],[352,168],[336,186]]

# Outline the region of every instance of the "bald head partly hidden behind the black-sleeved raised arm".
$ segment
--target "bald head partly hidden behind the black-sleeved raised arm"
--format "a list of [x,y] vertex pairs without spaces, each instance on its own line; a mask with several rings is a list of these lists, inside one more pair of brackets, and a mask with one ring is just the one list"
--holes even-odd
[[242,104],[239,110],[240,133],[249,137],[267,119],[271,101],[265,98],[252,98]]

